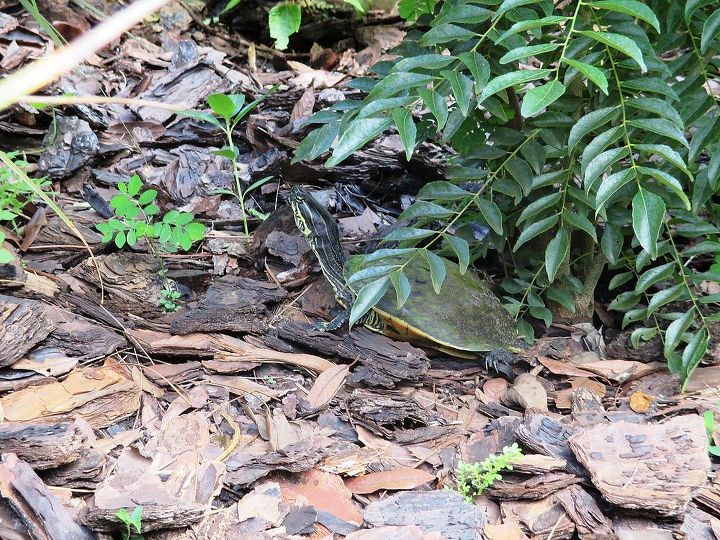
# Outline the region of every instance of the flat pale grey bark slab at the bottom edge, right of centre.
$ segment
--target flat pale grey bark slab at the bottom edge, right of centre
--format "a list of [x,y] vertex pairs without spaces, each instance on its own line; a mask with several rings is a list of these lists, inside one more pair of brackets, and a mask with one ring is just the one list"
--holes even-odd
[[456,491],[403,491],[370,503],[363,513],[373,527],[415,525],[423,533],[439,531],[448,540],[475,540],[485,513]]

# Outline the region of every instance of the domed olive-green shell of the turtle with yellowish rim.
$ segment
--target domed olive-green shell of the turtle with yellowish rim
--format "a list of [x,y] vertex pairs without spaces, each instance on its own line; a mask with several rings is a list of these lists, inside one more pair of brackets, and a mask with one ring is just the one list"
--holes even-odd
[[[358,269],[360,261],[360,257],[351,257],[346,273]],[[404,268],[412,291],[405,304],[398,309],[395,289],[390,286],[374,308],[393,330],[386,333],[407,341],[430,341],[450,353],[512,347],[516,340],[515,322],[487,284],[471,270],[461,274],[456,263],[447,259],[443,262],[446,277],[439,294],[433,288],[424,257],[417,257]],[[397,263],[402,261],[382,262]]]

